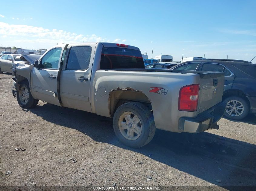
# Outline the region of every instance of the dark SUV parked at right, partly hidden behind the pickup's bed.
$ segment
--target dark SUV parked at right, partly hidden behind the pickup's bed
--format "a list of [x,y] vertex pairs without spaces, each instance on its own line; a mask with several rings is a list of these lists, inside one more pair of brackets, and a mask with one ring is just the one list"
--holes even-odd
[[256,114],[256,64],[244,60],[204,59],[183,62],[171,69],[225,72],[224,115],[240,120],[248,113]]

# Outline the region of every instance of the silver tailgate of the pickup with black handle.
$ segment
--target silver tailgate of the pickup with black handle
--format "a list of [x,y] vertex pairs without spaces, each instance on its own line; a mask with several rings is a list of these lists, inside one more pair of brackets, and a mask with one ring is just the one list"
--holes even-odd
[[221,102],[224,89],[224,72],[201,73],[199,76],[198,114]]

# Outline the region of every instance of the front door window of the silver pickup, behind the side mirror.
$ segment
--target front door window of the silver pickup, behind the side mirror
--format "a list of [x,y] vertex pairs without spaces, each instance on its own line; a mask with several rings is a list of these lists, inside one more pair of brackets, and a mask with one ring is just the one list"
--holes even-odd
[[61,55],[62,48],[54,48],[50,50],[48,53],[45,54],[45,56],[42,58],[42,65],[43,68],[58,68],[58,63]]

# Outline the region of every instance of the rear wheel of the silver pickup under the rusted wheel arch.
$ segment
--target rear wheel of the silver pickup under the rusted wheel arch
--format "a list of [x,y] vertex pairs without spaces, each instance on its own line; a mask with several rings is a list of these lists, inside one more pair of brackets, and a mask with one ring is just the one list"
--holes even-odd
[[118,107],[114,114],[113,127],[120,142],[132,148],[148,144],[156,129],[153,113],[139,102],[128,102]]

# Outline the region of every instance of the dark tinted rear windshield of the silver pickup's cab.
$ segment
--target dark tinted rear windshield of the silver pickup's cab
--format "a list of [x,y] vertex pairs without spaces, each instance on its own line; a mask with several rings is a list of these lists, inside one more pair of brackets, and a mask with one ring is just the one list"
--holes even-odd
[[103,47],[100,69],[145,68],[139,50],[117,47]]

